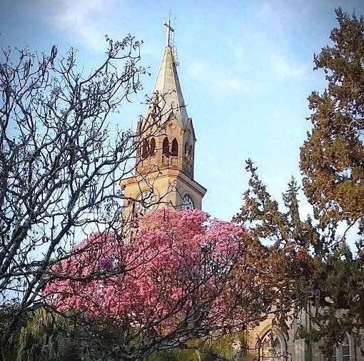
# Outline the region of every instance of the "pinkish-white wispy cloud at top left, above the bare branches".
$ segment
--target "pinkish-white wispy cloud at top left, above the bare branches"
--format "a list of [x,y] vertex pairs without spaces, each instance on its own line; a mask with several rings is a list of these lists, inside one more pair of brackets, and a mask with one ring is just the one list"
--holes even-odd
[[113,4],[115,0],[36,0],[34,9],[56,31],[100,51]]

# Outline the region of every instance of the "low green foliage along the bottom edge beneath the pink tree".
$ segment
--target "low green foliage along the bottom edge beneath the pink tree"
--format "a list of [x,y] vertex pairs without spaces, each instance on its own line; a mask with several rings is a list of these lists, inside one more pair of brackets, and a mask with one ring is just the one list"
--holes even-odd
[[[0,327],[14,312],[14,307],[7,307],[0,312]],[[116,338],[123,342],[128,332],[120,325],[105,322],[105,329],[89,331],[100,333],[98,345],[89,339],[85,325],[76,325],[76,318],[69,315],[58,315],[53,310],[39,308],[27,312],[19,320],[17,327],[8,340],[1,340],[0,360],[4,361],[111,361],[111,360],[145,360],[145,361],[178,361],[178,360],[251,360],[244,345],[245,336],[228,334],[222,337],[206,337],[190,340],[178,348],[151,352],[143,357],[135,353],[135,357],[123,355],[118,351]],[[124,332],[123,332],[124,331]],[[125,335],[123,335],[123,333]],[[96,333],[93,334],[96,337]],[[143,335],[141,337],[147,337]],[[233,343],[239,342],[241,347],[234,350]],[[131,345],[132,348],[132,345]],[[145,352],[148,353],[148,352]]]

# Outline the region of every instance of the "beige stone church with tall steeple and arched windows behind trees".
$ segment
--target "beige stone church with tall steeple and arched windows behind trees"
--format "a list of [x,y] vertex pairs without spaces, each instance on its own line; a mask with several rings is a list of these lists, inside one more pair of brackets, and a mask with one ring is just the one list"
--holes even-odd
[[[124,195],[125,223],[152,210],[173,207],[201,209],[203,188],[194,179],[196,136],[188,116],[176,70],[176,57],[171,41],[171,24],[167,26],[166,49],[153,89],[146,117],[138,122],[136,135],[135,174],[121,180]],[[309,317],[303,313],[293,320],[289,337],[266,320],[248,330],[248,349],[259,361],[324,361],[319,344],[295,339],[298,325],[309,327]],[[355,345],[346,335],[341,345],[333,345],[330,361],[363,360],[364,340]]]

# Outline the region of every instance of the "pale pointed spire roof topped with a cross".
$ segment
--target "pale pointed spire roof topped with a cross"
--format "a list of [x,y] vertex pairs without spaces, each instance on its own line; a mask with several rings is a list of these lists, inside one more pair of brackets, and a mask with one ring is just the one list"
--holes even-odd
[[176,59],[173,56],[173,48],[171,46],[171,31],[173,29],[171,28],[170,21],[164,25],[167,26],[167,44],[154,85],[153,94],[154,96],[158,94],[165,97],[166,103],[163,110],[168,111],[167,117],[171,109],[181,123],[181,126],[184,126],[188,120],[188,115],[183,100],[181,84],[178,79]]

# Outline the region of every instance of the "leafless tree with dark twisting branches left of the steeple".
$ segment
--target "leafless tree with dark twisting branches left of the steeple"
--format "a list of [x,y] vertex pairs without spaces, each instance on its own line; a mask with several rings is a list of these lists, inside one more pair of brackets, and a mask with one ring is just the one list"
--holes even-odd
[[141,42],[106,37],[106,59],[84,76],[76,51],[2,51],[0,63],[0,298],[17,315],[37,300],[44,272],[74,238],[100,224],[118,232],[118,180],[131,173],[132,131],[108,116],[141,89]]

